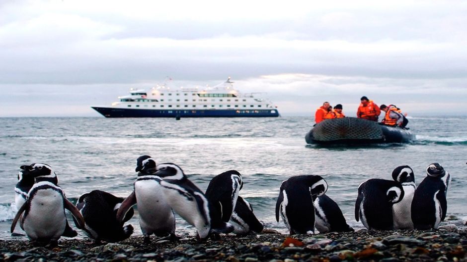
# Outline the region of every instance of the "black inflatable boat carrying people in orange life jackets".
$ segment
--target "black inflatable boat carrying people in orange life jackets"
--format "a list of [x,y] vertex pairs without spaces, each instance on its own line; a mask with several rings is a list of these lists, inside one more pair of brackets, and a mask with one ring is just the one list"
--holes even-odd
[[415,135],[407,129],[391,127],[362,118],[326,119],[305,136],[308,144],[409,143]]

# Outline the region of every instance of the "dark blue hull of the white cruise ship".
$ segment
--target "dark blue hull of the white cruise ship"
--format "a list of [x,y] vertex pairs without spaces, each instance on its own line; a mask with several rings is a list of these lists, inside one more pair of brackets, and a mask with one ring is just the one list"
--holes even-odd
[[277,109],[262,110],[159,110],[92,106],[105,117],[278,117]]

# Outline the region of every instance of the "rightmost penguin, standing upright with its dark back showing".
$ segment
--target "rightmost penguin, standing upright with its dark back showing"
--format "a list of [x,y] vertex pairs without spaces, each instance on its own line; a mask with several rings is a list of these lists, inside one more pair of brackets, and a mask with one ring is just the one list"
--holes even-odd
[[412,200],[413,226],[420,230],[438,228],[446,217],[446,195],[451,183],[451,175],[439,163],[430,164],[426,174]]

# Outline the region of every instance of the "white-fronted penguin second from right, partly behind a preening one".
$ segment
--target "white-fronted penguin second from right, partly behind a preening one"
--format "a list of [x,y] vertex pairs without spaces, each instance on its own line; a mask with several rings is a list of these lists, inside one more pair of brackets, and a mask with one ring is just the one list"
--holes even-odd
[[411,205],[413,194],[415,193],[415,176],[413,170],[408,165],[401,165],[392,171],[392,179],[399,182],[404,189],[403,199],[392,205],[392,219],[394,229],[413,229],[411,217]]

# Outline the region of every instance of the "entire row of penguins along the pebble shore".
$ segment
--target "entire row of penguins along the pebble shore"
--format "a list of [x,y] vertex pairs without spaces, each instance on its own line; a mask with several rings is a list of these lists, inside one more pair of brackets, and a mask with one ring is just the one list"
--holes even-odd
[[[67,221],[70,210],[75,225],[96,242],[119,242],[133,233],[124,225],[138,206],[144,242],[151,235],[159,240],[177,240],[175,215],[194,226],[200,239],[219,238],[220,233],[245,235],[260,233],[263,224],[251,205],[239,196],[242,176],[230,170],[215,176],[203,193],[174,163],[156,164],[150,156],[137,159],[137,179],[125,199],[108,192],[93,190],[78,198],[76,206],[58,185],[57,175],[48,164],[22,165],[15,187],[19,207],[11,224],[18,220],[28,238],[37,245],[56,245],[61,236],[78,233]],[[446,216],[446,193],[451,180],[438,163],[427,167],[427,177],[415,189],[413,171],[399,166],[393,180],[370,179],[358,188],[355,218],[368,229],[437,228]],[[317,175],[293,176],[282,182],[276,203],[279,214],[291,234],[353,231],[337,204],[325,195],[328,185]]]

